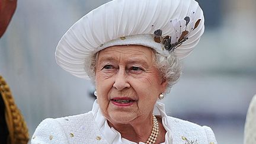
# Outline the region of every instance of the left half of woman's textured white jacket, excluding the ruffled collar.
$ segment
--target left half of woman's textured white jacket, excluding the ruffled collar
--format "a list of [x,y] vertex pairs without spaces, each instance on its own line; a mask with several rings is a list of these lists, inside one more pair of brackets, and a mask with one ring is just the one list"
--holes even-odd
[[[52,137],[52,139],[50,139]],[[97,139],[100,137],[100,139]],[[107,143],[100,133],[89,111],[76,116],[62,117],[59,119],[45,119],[37,127],[31,138],[32,144],[82,144],[82,143]]]

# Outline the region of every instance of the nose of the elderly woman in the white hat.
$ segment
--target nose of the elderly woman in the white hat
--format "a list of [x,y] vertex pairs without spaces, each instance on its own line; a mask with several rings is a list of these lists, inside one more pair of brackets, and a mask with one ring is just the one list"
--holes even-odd
[[117,90],[121,91],[125,88],[130,88],[130,84],[127,81],[127,73],[125,70],[119,69],[119,71],[116,74],[115,82],[113,84],[113,87]]

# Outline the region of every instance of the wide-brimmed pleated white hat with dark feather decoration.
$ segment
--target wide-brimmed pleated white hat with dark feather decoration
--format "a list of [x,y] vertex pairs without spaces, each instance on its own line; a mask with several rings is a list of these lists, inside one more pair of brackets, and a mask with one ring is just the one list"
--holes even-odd
[[55,56],[63,69],[89,79],[91,57],[106,47],[137,44],[183,59],[203,31],[203,11],[194,0],[114,0],[73,24]]

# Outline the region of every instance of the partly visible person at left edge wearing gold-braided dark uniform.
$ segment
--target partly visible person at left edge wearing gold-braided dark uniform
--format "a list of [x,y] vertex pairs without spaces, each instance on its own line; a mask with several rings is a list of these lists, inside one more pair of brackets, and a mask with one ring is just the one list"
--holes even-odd
[[[0,38],[7,30],[12,15],[17,7],[17,0],[0,0]],[[28,143],[28,129],[20,110],[14,102],[11,91],[0,75],[0,143]]]

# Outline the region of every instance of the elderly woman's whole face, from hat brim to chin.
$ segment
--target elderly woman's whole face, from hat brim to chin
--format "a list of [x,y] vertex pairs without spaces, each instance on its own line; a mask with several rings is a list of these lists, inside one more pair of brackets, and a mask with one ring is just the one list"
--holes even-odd
[[97,99],[111,123],[127,124],[151,117],[158,95],[165,91],[145,46],[112,46],[98,54],[95,73]]

